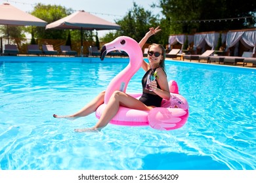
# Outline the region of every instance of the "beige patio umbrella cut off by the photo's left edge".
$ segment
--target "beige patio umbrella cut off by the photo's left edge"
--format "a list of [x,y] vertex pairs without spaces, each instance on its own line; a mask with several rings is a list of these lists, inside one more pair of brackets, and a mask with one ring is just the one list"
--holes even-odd
[[27,12],[24,12],[16,7],[13,7],[9,3],[3,3],[3,5],[0,5],[0,24],[7,25],[8,29],[8,25],[34,25],[44,27],[47,24],[47,22],[33,16],[32,14],[28,14]]

